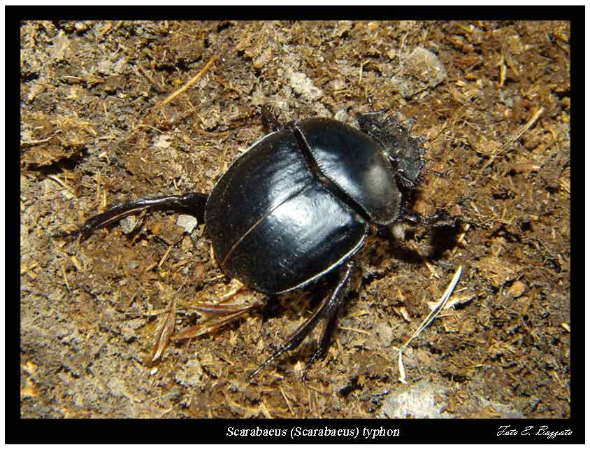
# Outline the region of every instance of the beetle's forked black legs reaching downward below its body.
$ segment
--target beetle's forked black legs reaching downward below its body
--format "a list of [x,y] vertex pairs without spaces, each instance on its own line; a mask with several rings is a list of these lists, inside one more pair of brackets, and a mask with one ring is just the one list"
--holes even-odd
[[305,366],[305,371],[303,373],[303,379],[305,379],[305,374],[308,372],[308,369],[313,364],[313,362],[315,362],[317,359],[322,359],[328,352],[331,336],[334,332],[334,329],[336,329],[336,317],[338,316],[338,310],[340,309],[340,306],[342,305],[348,292],[348,284],[350,282],[350,276],[353,269],[354,264],[352,262],[347,262],[340,269],[338,284],[334,288],[333,292],[324,298],[322,304],[319,304],[315,313],[310,318],[308,318],[307,321],[303,322],[300,327],[298,327],[292,336],[289,337],[289,341],[287,341],[285,345],[282,345],[280,348],[278,348],[278,350],[273,355],[271,355],[271,357],[268,357],[268,359],[266,359],[258,367],[258,369],[248,376],[249,380],[254,378],[254,376],[262,371],[264,367],[273,362],[273,360],[280,357],[283,353],[300,345],[305,337],[308,336],[313,329],[315,329],[319,320],[325,318],[326,326],[324,327],[324,332],[322,333],[322,339],[320,340],[317,349],[312,354],[308,364]]

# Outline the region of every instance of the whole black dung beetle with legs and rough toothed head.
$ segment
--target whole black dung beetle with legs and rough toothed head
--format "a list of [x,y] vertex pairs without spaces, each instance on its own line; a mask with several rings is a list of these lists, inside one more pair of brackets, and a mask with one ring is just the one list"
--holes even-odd
[[359,115],[357,129],[327,118],[282,125],[266,108],[262,115],[271,133],[238,157],[210,194],[138,199],[66,234],[85,238],[138,211],[182,208],[204,219],[222,271],[254,290],[278,295],[337,271],[331,294],[250,378],[296,348],[322,319],[322,338],[305,371],[326,355],[354,269],[352,256],[370,225],[447,224],[405,211],[422,177],[424,148],[396,117]]

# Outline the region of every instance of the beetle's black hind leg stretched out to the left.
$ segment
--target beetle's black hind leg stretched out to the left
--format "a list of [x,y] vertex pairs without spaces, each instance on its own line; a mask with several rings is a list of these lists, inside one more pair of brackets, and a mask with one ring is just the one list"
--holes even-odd
[[127,215],[132,215],[147,209],[181,209],[194,215],[199,222],[203,222],[205,204],[209,195],[199,192],[190,192],[182,195],[168,195],[166,197],[143,198],[120,204],[106,212],[89,218],[79,229],[72,232],[58,234],[57,238],[78,237],[87,238],[92,232],[108,224],[122,220]]

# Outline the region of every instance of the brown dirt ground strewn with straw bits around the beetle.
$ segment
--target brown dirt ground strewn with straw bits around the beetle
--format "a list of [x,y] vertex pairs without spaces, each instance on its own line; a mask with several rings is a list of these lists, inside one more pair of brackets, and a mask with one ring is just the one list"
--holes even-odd
[[[570,417],[568,22],[24,22],[20,61],[22,417]],[[313,338],[247,374],[325,283],[180,340],[232,287],[201,223],[163,211],[54,237],[130,199],[209,192],[265,104],[413,119],[427,168],[449,173],[426,173],[413,206],[457,218],[370,237],[305,383]],[[396,348],[459,266],[399,382]]]

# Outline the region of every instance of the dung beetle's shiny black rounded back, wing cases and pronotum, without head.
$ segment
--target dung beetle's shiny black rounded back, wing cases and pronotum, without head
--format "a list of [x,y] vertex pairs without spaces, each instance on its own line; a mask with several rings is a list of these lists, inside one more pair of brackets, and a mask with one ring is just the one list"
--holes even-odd
[[229,276],[280,294],[349,259],[368,221],[393,222],[400,199],[378,143],[312,118],[264,136],[231,165],[207,201],[206,231]]

